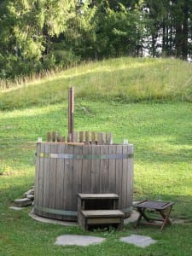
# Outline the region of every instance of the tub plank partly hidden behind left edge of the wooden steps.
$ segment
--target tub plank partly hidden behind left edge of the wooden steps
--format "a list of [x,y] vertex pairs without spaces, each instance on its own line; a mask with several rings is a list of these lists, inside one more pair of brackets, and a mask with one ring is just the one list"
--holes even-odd
[[[83,154],[83,146],[74,146],[73,154]],[[73,160],[73,211],[77,211],[78,205],[78,193],[82,191],[82,168],[83,160],[74,159]]]

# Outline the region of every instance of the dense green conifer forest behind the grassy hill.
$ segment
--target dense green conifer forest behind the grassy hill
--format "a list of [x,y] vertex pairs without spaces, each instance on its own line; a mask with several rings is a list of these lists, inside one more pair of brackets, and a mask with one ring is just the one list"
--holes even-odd
[[192,55],[192,0],[1,0],[0,79],[122,55]]

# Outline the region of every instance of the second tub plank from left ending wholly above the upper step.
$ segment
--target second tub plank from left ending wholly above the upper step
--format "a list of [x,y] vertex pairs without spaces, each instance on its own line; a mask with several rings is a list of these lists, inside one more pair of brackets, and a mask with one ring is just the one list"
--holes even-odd
[[[101,154],[101,146],[97,145],[92,145],[91,146],[92,155],[97,155]],[[90,192],[91,193],[100,193],[100,164],[101,160],[100,159],[91,159],[91,173],[90,173],[90,183],[91,183],[91,188]]]

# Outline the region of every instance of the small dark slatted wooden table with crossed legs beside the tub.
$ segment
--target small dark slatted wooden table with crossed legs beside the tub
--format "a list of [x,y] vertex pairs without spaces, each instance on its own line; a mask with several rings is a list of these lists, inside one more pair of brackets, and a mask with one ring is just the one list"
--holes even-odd
[[[137,218],[137,223],[135,224],[135,228],[138,224],[149,224],[149,225],[160,225],[160,230],[163,230],[166,224],[172,224],[169,215],[172,211],[173,202],[167,201],[140,201],[133,205],[133,207],[137,207],[137,211],[140,213]],[[155,212],[159,212],[162,218],[150,218],[146,215],[146,210],[154,210]],[[144,218],[146,220],[145,223],[141,223],[141,219]],[[160,222],[160,224],[158,223]]]

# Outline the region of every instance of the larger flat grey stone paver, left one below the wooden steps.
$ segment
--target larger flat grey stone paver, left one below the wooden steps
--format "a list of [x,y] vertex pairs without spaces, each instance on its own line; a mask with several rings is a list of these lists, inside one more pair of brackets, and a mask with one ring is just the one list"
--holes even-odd
[[96,236],[78,236],[78,235],[63,235],[56,238],[55,244],[61,246],[78,245],[89,246],[105,241],[105,238]]

